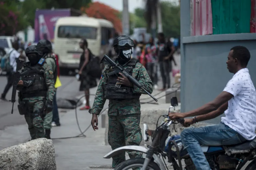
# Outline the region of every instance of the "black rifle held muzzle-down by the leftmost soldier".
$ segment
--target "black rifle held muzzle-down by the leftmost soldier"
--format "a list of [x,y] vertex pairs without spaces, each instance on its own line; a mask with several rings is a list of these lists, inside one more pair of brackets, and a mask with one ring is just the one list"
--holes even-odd
[[16,72],[12,73],[13,74],[13,86],[12,86],[12,99],[10,100],[12,102],[12,112],[11,112],[12,114],[13,114],[13,105],[16,101],[17,85],[20,80],[20,72],[21,72],[21,68],[23,66],[24,61],[17,59],[16,63],[17,63]]

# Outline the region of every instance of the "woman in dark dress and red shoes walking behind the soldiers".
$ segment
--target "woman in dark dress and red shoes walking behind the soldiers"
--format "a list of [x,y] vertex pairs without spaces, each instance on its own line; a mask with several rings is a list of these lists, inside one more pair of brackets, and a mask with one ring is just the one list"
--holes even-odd
[[87,110],[90,109],[89,105],[89,89],[96,87],[96,78],[87,74],[86,65],[90,64],[89,61],[91,59],[91,51],[88,48],[88,43],[85,38],[82,38],[79,42],[80,48],[83,49],[83,53],[80,56],[80,64],[79,64],[79,72],[80,75],[79,81],[81,81],[79,91],[85,91],[85,106],[81,107],[80,110]]

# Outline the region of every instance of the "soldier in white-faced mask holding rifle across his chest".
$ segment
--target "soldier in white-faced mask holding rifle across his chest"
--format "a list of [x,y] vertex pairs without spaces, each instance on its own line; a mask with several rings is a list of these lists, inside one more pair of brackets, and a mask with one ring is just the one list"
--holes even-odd
[[[145,85],[145,89],[152,93],[153,83],[145,69],[137,59],[131,58],[133,41],[130,37],[119,36],[114,39],[113,43],[119,63],[127,72]],[[114,150],[125,145],[139,145],[142,141],[140,128],[140,96],[146,94],[133,85],[122,74],[108,76],[112,67],[108,65],[104,68],[101,76],[92,109],[91,125],[95,131],[98,129],[97,115],[100,114],[106,99],[109,99],[108,105],[108,143]],[[94,125],[96,123],[96,126]],[[140,152],[127,152],[130,158],[142,157]],[[125,161],[125,152],[114,156],[112,167]]]

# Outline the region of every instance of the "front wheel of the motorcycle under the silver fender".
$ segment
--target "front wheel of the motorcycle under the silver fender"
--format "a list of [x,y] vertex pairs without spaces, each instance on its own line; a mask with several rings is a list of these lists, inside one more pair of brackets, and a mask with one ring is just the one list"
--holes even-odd
[[[136,169],[142,168],[144,161],[145,161],[145,158],[128,159],[126,161],[123,161],[119,165],[117,165],[114,170],[130,170],[130,169],[136,170]],[[149,163],[147,170],[160,170],[160,168],[156,162],[152,161]]]

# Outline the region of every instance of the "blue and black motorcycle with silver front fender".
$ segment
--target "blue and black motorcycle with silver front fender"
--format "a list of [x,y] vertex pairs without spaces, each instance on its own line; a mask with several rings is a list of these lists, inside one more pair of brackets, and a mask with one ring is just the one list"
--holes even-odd
[[[169,112],[171,108],[175,110],[175,106],[178,106],[176,97],[171,99],[171,105]],[[180,135],[171,136],[170,134],[170,125],[184,124],[184,119],[172,121],[168,114],[160,117],[165,117],[165,120],[160,126],[157,126],[155,131],[149,130],[148,126],[144,124],[144,140],[149,141],[149,137],[151,137],[151,145],[147,147],[123,146],[104,156],[104,158],[109,159],[125,151],[138,151],[146,154],[146,158],[132,158],[120,163],[115,170],[128,170],[135,167],[141,170],[168,170],[164,158],[168,158],[168,162],[172,163],[171,166],[174,170],[183,170],[182,159],[185,162],[184,170],[196,170],[192,159],[182,144]],[[212,170],[240,170],[248,161],[252,162],[247,165],[245,170],[256,170],[256,138],[236,145],[201,145],[201,148]]]

